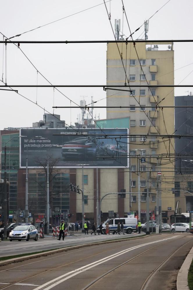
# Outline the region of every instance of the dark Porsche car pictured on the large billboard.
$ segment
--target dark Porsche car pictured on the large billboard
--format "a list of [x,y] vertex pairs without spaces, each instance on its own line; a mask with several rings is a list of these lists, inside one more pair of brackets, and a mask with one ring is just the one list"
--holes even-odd
[[94,160],[108,154],[108,146],[99,139],[79,137],[65,142],[62,146],[62,157]]

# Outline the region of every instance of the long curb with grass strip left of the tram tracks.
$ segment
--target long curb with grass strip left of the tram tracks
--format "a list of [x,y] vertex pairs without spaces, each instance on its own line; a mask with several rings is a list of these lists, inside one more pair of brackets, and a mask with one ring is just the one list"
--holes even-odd
[[145,237],[149,237],[149,236],[150,235],[142,235],[142,236],[136,237],[136,238],[130,237],[130,238],[124,238],[124,239],[116,239],[116,240],[112,240],[112,241],[108,240],[108,241],[94,242],[94,243],[83,244],[83,245],[64,247],[64,248],[60,248],[60,249],[56,249],[56,250],[43,252],[43,253],[32,254],[32,255],[28,255],[28,256],[23,256],[23,257],[8,259],[5,261],[0,261],[0,266],[5,266],[5,265],[11,264],[11,263],[17,263],[17,262],[22,262],[22,261],[26,261],[26,260],[31,260],[34,258],[40,258],[43,256],[48,256],[48,255],[56,254],[56,253],[60,253],[60,252],[67,252],[67,251],[73,250],[73,249],[80,249],[80,248],[84,248],[84,247],[91,247],[94,245],[103,245],[103,244],[107,244],[107,243],[122,242],[122,241],[127,241],[127,240],[136,240],[136,239],[141,239],[141,238],[145,238]]

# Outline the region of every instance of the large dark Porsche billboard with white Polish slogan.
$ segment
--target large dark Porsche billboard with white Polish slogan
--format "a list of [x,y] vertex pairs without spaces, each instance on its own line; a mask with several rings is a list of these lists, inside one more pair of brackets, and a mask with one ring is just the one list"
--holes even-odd
[[[58,135],[54,135],[58,134]],[[98,134],[98,136],[97,136]],[[104,136],[109,135],[104,138]],[[40,168],[47,158],[54,167],[128,167],[128,129],[20,129],[20,168]],[[103,136],[101,136],[103,135]],[[120,136],[123,135],[123,138]],[[122,158],[121,155],[125,155]],[[102,158],[101,158],[102,157]]]

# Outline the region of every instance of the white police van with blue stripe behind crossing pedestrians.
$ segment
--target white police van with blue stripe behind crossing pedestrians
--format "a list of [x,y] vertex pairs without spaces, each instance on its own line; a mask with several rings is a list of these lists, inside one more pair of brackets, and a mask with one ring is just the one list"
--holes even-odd
[[103,228],[106,229],[106,223],[109,223],[109,231],[113,232],[117,229],[117,224],[123,222],[124,224],[124,231],[127,234],[131,234],[132,232],[137,232],[137,218],[132,217],[122,217],[122,218],[116,218],[116,219],[108,219],[106,222],[103,223]]

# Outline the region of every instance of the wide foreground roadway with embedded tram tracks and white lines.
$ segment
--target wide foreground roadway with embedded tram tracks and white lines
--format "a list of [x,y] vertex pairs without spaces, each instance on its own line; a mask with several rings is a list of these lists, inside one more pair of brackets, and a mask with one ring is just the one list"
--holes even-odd
[[171,233],[67,250],[1,266],[0,289],[174,290],[192,246],[191,234]]

